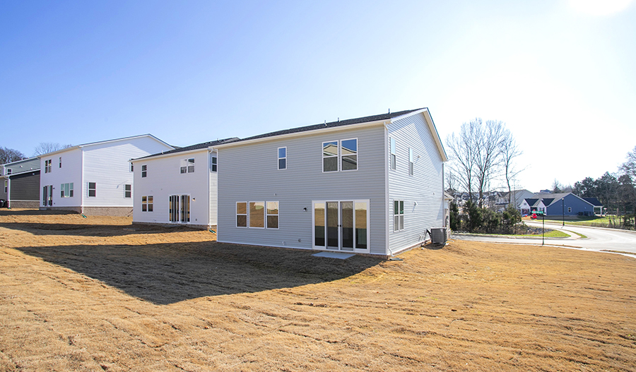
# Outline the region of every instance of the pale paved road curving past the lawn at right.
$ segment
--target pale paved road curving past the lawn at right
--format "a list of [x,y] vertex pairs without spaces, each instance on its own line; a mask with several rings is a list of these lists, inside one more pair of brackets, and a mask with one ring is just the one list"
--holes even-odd
[[[528,226],[541,227],[541,222],[526,222]],[[567,246],[571,248],[581,248],[589,251],[621,251],[636,254],[636,233],[624,232],[613,229],[599,229],[597,227],[587,226],[570,226],[565,225],[562,229],[561,224],[546,223],[546,229],[563,230],[570,234],[570,238],[546,238],[546,245],[550,246]],[[580,239],[577,232],[587,236],[586,239]],[[541,238],[517,238],[510,239],[498,236],[483,235],[454,235],[455,239],[470,241],[493,241],[497,243],[512,244],[532,244],[541,245]],[[630,255],[632,256],[632,255]]]

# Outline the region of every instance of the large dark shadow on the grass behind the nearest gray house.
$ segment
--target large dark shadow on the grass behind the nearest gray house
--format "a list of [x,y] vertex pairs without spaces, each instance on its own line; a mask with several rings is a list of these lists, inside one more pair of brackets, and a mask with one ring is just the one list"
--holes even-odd
[[362,256],[318,258],[312,251],[216,242],[19,249],[158,305],[330,282],[382,262]]

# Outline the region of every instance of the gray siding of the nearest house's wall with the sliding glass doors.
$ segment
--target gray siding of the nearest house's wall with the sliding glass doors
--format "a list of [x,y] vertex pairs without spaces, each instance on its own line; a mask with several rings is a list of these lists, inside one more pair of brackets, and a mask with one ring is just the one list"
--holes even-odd
[[[341,140],[351,138],[357,140],[357,171],[323,172],[324,155],[318,148],[336,143],[337,149]],[[384,126],[371,126],[219,148],[223,174],[218,179],[218,241],[310,249],[312,200],[369,200],[369,252],[387,254],[385,169],[377,165],[384,164],[385,138]],[[278,172],[272,149],[283,146],[288,159],[293,154],[293,167],[288,164],[285,172]],[[252,161],[245,162],[245,154]],[[337,150],[335,159],[338,167]],[[278,200],[278,229],[237,227],[236,203],[250,200]]]

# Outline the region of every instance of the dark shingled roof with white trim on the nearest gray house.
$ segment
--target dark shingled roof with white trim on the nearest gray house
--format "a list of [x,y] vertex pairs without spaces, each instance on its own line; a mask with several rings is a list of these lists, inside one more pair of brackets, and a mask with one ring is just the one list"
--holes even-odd
[[260,142],[261,140],[267,140],[273,137],[292,136],[295,134],[302,134],[302,133],[310,132],[310,131],[334,130],[334,129],[338,129],[345,126],[383,124],[383,122],[396,121],[399,119],[403,119],[404,117],[411,116],[413,114],[418,114],[418,113],[425,114],[426,118],[428,119],[426,120],[426,122],[430,128],[432,137],[435,140],[435,145],[437,146],[437,150],[439,150],[442,160],[444,162],[447,161],[448,157],[446,155],[446,150],[444,150],[444,146],[442,145],[442,141],[440,140],[440,135],[439,133],[437,133],[437,128],[435,128],[435,124],[432,121],[430,112],[428,112],[427,107],[423,107],[420,109],[404,110],[404,111],[393,112],[393,113],[389,112],[387,114],[363,116],[363,117],[355,118],[355,119],[331,121],[329,123],[325,122],[323,124],[313,124],[310,126],[299,126],[298,128],[283,129],[282,131],[274,131],[270,133],[259,134],[258,136],[252,136],[252,137],[243,138],[240,140],[234,140],[231,142],[217,145],[217,147],[222,148],[222,147],[225,147],[226,145],[235,145],[235,144],[241,145],[243,143]]

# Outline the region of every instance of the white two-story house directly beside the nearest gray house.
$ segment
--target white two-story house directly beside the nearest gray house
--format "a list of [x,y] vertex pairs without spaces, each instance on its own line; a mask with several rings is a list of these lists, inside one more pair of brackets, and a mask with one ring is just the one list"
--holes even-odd
[[133,223],[216,228],[216,140],[131,160],[135,169]]

